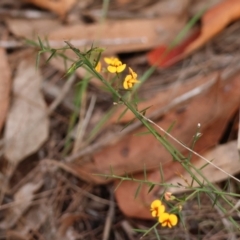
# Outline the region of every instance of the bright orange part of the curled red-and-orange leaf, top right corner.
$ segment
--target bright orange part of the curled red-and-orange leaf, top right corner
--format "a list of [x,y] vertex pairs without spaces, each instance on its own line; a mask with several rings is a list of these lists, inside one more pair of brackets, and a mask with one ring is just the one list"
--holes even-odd
[[200,36],[186,48],[184,55],[188,55],[203,46],[220,33],[229,23],[239,18],[239,0],[225,0],[208,10],[202,17]]

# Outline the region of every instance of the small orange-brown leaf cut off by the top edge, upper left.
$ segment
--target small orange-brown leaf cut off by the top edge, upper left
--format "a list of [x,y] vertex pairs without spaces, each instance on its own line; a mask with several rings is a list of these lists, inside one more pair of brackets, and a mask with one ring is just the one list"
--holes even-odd
[[76,0],[25,0],[26,2],[32,3],[38,7],[48,9],[52,12],[57,13],[61,17],[64,17],[64,15],[73,7]]

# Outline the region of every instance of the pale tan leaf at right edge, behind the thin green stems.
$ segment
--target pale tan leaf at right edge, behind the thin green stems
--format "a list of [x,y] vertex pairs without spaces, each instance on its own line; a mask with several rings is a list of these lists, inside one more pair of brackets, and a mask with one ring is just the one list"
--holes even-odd
[[[231,175],[235,175],[240,172],[240,161],[237,151],[237,141],[232,141],[223,145],[219,145],[207,151],[205,154],[203,154],[203,157],[209,160],[213,160],[212,162],[215,165],[217,165],[219,168]],[[202,169],[201,173],[205,176],[205,178],[208,179],[209,182],[219,182],[227,178],[227,175],[225,173],[218,170],[214,166],[209,164],[206,167],[202,168],[202,166],[204,165],[206,165],[206,161],[204,161],[203,159],[197,159],[196,164],[194,164],[197,169]],[[194,169],[192,169],[192,171],[194,172]],[[201,183],[204,183],[204,179],[202,179],[201,176],[199,176],[197,173],[196,176],[198,176],[198,179]],[[183,173],[183,178],[189,183],[189,185],[192,183],[192,178],[187,172]],[[176,185],[177,183],[180,183],[182,184],[182,186],[186,186],[186,182],[183,181],[183,178],[177,176],[173,177],[168,181],[168,184]],[[192,186],[196,187],[198,185],[194,181]],[[186,190],[183,187],[172,187],[169,188],[168,191],[172,193],[179,193]]]

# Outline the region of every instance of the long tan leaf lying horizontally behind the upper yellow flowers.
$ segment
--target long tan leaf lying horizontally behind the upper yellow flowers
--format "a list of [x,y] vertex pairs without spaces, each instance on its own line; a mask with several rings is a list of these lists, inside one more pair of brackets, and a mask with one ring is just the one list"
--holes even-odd
[[[64,26],[49,34],[49,41],[69,40],[73,45],[91,46],[98,41],[106,47],[106,52],[133,52],[151,49],[166,43],[183,28],[186,18],[165,17],[157,19],[138,19],[106,21],[102,24]],[[106,53],[105,52],[105,53]]]

